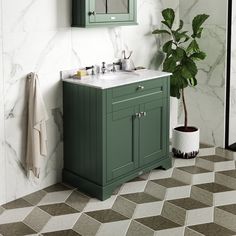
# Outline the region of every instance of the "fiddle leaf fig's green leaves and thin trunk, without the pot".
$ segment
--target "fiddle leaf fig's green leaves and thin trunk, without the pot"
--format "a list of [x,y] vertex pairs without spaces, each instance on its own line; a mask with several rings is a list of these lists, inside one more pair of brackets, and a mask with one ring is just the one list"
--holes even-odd
[[164,29],[156,29],[153,34],[166,34],[169,36],[162,50],[166,54],[163,62],[163,71],[171,72],[170,94],[180,99],[182,97],[184,106],[184,129],[188,130],[188,113],[185,102],[184,89],[188,86],[196,86],[198,68],[196,61],[204,60],[206,53],[200,49],[198,40],[202,37],[202,25],[209,15],[200,14],[192,21],[192,33],[184,31],[184,22],[180,20],[177,29],[173,29],[175,12],[171,8],[162,11]]

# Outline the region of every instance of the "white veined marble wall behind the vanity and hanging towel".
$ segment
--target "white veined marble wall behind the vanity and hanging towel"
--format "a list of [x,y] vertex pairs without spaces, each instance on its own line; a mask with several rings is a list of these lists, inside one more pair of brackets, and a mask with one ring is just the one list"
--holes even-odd
[[[136,65],[157,67],[155,60],[151,63],[158,50],[151,31],[153,25],[160,24],[163,8],[174,7],[178,11],[178,1],[138,0],[138,26],[72,29],[68,0],[0,0],[3,30],[0,38],[3,45],[0,47],[0,60],[3,58],[3,62],[0,61],[0,65],[3,64],[0,69],[0,140],[4,144],[1,152],[4,151],[0,153],[0,204],[61,180],[63,134],[59,71],[102,61],[113,62],[124,48],[134,50]],[[28,179],[22,164],[25,158],[25,80],[31,71],[39,74],[50,115],[47,123],[49,154],[42,160],[39,180]]]

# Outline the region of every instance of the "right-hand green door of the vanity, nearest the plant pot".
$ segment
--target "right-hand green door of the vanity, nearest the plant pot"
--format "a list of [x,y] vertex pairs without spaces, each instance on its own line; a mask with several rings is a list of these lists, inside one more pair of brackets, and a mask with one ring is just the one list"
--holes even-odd
[[163,99],[140,105],[140,111],[145,112],[139,119],[139,157],[143,166],[166,154],[169,116],[167,102]]

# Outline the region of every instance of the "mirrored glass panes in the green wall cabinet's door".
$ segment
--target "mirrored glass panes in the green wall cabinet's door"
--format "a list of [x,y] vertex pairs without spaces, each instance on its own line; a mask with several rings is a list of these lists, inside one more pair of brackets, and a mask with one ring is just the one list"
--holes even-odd
[[97,14],[128,14],[129,0],[95,0]]

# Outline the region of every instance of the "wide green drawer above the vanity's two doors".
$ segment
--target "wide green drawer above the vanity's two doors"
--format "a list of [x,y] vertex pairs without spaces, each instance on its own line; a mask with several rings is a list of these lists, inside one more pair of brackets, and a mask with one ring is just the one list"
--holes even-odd
[[168,96],[168,77],[140,81],[107,91],[107,113]]

